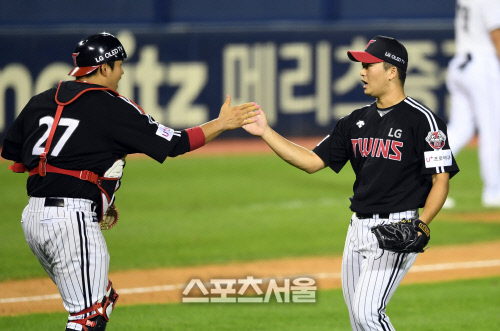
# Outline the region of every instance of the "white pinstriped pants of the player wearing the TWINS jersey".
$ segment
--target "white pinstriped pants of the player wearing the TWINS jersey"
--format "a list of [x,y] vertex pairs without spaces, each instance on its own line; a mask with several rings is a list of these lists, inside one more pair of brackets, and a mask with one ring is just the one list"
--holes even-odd
[[376,214],[363,219],[352,216],[342,258],[342,291],[352,330],[394,330],[385,309],[418,254],[380,249],[370,229],[417,216],[417,210],[390,214],[388,219]]

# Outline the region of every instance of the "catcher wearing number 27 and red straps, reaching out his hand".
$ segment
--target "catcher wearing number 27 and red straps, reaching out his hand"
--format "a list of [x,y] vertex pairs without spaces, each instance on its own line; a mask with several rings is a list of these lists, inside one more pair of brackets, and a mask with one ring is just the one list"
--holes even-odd
[[101,230],[118,221],[115,192],[125,155],[142,153],[163,163],[255,122],[260,108],[254,102],[230,106],[227,95],[216,119],[174,130],[116,91],[126,58],[109,33],[83,38],[73,52],[69,75],[75,80],[34,96],[2,144],[2,157],[15,162],[9,168],[29,172],[21,225],[59,289],[68,331],[104,330],[118,299]]

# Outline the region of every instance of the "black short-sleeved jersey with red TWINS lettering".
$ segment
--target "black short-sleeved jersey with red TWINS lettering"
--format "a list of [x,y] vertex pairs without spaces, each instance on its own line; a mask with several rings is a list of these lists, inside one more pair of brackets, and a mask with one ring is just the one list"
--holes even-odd
[[422,208],[431,175],[448,172],[451,178],[459,170],[438,116],[409,97],[389,109],[381,115],[374,102],[353,111],[313,150],[335,172],[351,162],[354,212]]

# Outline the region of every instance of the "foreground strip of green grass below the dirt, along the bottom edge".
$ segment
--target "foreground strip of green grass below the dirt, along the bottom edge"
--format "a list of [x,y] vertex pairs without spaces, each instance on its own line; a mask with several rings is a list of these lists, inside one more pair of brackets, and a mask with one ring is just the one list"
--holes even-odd
[[[397,330],[499,330],[500,277],[400,286],[387,313]],[[60,330],[67,315],[0,317],[0,329]],[[107,330],[350,330],[341,290],[316,303],[163,304],[120,306]]]

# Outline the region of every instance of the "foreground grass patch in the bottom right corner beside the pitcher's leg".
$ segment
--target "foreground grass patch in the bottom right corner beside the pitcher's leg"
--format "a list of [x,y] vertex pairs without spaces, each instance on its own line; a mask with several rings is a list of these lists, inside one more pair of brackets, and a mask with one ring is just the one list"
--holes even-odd
[[400,286],[387,313],[396,330],[500,330],[500,277]]

